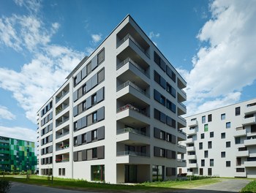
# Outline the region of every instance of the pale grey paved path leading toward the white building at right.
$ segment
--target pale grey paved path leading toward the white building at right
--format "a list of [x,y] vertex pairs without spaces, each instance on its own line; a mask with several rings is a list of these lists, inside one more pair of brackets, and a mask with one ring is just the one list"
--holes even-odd
[[239,192],[244,186],[246,186],[247,183],[249,183],[249,180],[228,180],[223,179],[223,181],[218,183],[213,183],[206,186],[200,186],[193,189],[184,189],[180,191],[175,192],[188,192],[188,193],[231,193],[231,192]]

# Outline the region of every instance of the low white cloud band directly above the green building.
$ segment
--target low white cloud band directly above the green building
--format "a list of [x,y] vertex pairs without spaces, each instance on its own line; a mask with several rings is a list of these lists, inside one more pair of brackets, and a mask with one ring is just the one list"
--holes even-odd
[[[37,132],[33,129],[27,129],[19,126],[7,127],[0,126],[0,136],[16,138],[19,140],[28,140],[36,142]],[[36,150],[36,148],[35,148]]]

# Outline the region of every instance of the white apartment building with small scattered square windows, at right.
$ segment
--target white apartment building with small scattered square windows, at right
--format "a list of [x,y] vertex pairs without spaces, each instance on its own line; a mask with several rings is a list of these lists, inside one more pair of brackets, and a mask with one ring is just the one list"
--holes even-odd
[[255,178],[255,118],[256,99],[187,117],[187,168],[180,173]]

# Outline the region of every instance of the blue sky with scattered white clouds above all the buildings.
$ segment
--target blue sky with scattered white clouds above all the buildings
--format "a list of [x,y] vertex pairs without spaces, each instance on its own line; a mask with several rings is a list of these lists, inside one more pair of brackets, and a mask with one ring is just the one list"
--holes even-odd
[[187,113],[256,97],[256,1],[0,1],[0,135],[36,113],[127,15],[187,80]]

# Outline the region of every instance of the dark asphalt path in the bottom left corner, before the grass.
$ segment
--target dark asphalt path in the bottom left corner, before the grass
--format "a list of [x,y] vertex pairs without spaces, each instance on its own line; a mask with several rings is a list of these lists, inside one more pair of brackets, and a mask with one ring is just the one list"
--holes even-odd
[[[47,186],[36,186],[25,183],[12,182],[10,193],[81,193],[69,189],[55,189]],[[89,192],[86,192],[89,193]],[[95,193],[95,192],[94,192]]]

